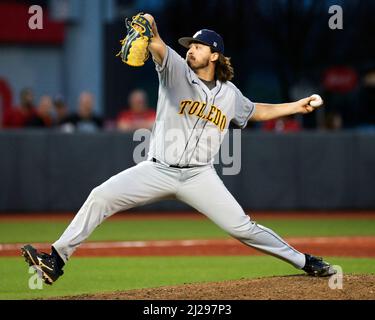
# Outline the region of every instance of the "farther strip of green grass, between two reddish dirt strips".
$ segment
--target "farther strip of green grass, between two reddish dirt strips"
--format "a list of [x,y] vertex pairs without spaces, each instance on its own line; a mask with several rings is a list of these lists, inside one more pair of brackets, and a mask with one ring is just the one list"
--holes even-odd
[[[281,236],[375,235],[375,219],[259,220]],[[1,222],[0,243],[52,242],[68,226],[64,221]],[[209,220],[105,221],[89,240],[215,239],[227,235]]]

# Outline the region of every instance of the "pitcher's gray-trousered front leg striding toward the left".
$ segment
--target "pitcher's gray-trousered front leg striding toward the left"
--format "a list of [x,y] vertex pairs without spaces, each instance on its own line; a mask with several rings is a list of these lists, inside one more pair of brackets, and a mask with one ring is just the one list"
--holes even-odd
[[60,239],[52,244],[66,262],[94,229],[116,212],[167,197],[173,179],[150,161],[120,172],[92,190]]

